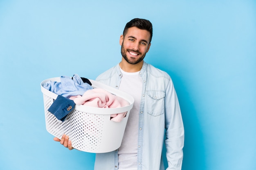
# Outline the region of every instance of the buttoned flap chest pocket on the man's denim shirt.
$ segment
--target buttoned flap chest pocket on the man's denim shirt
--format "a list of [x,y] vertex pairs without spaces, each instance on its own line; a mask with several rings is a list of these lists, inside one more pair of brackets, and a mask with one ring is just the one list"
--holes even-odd
[[147,91],[147,113],[152,116],[159,116],[164,113],[165,92]]

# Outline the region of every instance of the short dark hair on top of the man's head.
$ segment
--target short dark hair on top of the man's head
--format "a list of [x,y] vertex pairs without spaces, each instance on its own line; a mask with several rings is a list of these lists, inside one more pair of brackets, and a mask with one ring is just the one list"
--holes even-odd
[[150,33],[149,43],[151,42],[151,39],[153,36],[153,26],[150,21],[145,20],[145,19],[140,19],[140,18],[135,18],[135,19],[130,20],[130,22],[128,22],[126,24],[126,26],[124,27],[123,35],[125,36],[128,31],[128,28],[131,28],[133,26],[135,26],[141,30],[148,31]]

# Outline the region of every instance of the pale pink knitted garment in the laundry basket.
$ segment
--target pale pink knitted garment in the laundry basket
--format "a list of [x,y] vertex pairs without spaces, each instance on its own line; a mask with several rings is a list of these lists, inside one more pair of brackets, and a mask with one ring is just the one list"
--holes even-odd
[[[129,105],[128,101],[101,88],[87,90],[83,96],[71,96],[70,99],[74,100],[76,105],[85,105],[90,107],[117,108]],[[121,120],[126,116],[126,113],[127,112],[112,114],[110,116],[110,120],[121,122]]]

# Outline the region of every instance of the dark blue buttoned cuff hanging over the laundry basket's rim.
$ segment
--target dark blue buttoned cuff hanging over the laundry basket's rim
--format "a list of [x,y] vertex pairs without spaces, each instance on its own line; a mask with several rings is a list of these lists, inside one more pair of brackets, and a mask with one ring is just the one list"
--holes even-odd
[[61,95],[58,95],[56,100],[49,107],[48,111],[51,112],[58,120],[64,122],[68,113],[72,112],[75,108],[75,103],[73,100],[65,98]]

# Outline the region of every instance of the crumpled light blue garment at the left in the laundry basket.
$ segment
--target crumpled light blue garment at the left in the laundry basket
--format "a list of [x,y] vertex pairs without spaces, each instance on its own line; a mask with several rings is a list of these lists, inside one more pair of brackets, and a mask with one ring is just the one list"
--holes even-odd
[[55,94],[61,95],[65,98],[70,98],[70,96],[83,95],[89,89],[93,89],[88,83],[84,83],[81,77],[74,74],[73,77],[61,76],[61,81],[48,81],[43,87]]

